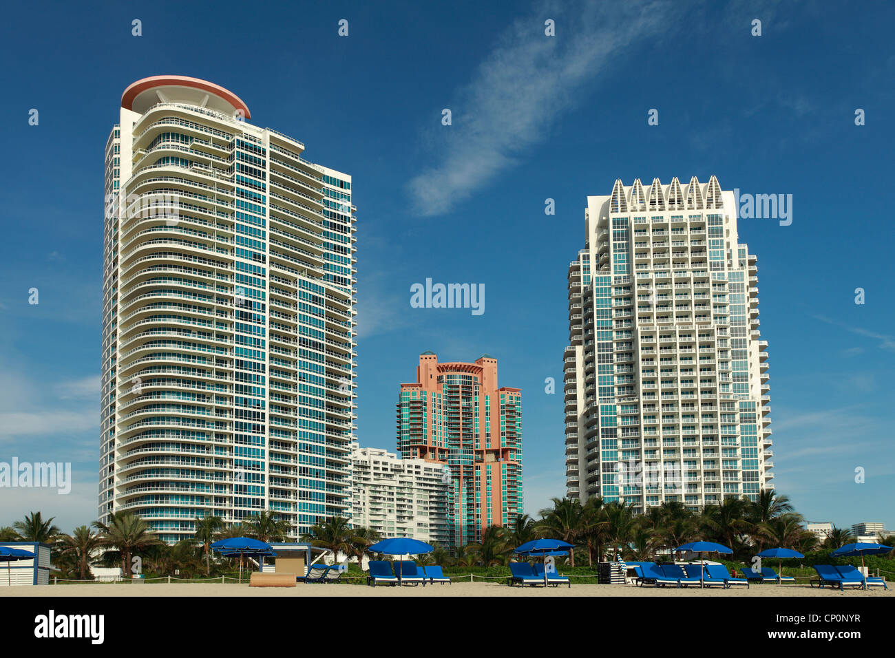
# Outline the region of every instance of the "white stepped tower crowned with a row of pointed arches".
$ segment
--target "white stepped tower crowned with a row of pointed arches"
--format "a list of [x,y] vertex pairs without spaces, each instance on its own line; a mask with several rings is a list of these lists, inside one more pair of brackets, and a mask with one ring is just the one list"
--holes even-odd
[[770,486],[767,343],[733,192],[616,181],[568,269],[567,495],[698,509]]

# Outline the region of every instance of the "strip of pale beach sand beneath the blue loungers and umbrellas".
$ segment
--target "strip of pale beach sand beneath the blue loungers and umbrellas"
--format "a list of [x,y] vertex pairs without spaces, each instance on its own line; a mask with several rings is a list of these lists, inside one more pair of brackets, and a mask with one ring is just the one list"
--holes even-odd
[[753,585],[721,589],[712,587],[635,587],[633,585],[572,585],[571,587],[509,587],[502,583],[476,581],[456,582],[452,585],[403,587],[367,587],[346,584],[304,584],[295,587],[249,587],[227,583],[141,583],[31,585],[0,587],[0,597],[6,596],[820,596],[864,597],[891,596],[895,590],[850,589],[844,592],[829,587],[820,589],[808,585]]

